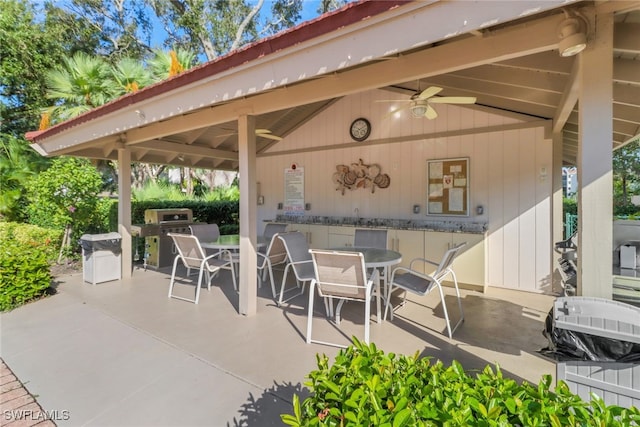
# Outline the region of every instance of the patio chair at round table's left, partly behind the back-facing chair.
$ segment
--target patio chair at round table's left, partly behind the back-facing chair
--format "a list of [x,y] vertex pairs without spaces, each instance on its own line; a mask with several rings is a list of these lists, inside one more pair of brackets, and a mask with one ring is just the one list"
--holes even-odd
[[[304,234],[299,231],[291,231],[288,233],[278,233],[278,238],[282,241],[284,248],[287,252],[287,265],[284,268],[282,275],[282,286],[280,287],[280,297],[278,298],[278,306],[284,304],[291,299],[302,295],[304,293],[304,285],[307,282],[311,282],[315,279],[315,272],[313,271],[313,260],[309,253],[309,244]],[[293,274],[296,277],[296,283],[300,292],[283,300],[285,294],[285,285],[287,283],[287,276],[289,270],[293,270]],[[289,289],[286,292],[290,292],[293,289]]]

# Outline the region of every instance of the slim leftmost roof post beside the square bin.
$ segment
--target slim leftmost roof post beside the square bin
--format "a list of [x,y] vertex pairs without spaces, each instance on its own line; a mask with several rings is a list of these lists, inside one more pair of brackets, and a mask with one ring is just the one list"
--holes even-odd
[[122,236],[122,278],[133,271],[131,251],[131,151],[118,150],[118,233]]

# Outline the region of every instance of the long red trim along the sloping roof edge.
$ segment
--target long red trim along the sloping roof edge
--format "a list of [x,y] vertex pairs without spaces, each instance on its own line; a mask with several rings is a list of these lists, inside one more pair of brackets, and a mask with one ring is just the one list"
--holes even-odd
[[372,16],[387,12],[407,3],[411,3],[411,1],[363,0],[356,3],[350,3],[341,9],[325,13],[318,18],[303,22],[274,36],[262,39],[239,50],[221,56],[213,61],[191,68],[175,77],[147,86],[136,93],[123,95],[105,105],[74,117],[73,119],[59,123],[44,131],[27,132],[25,137],[31,141],[51,137],[73,126],[77,126],[97,117],[120,110],[128,105],[153,98],[181,86],[214,76],[222,71],[251,62],[255,59],[278,52],[298,43],[311,40],[339,28],[366,20]]

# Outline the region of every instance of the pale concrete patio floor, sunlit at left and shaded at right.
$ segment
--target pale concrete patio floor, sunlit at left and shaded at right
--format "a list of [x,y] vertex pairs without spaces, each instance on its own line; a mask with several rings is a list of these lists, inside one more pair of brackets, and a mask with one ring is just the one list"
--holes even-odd
[[[0,355],[44,410],[67,411],[54,420],[60,426],[282,425],[293,394],[308,395],[316,354],[333,360],[338,352],[305,343],[307,294],[277,307],[264,286],[257,315],[246,317],[228,273],[203,289],[198,305],[167,298],[169,278],[167,269],[138,268],[97,285],[82,273],[59,277],[56,295],[1,315]],[[446,292],[455,321],[453,290]],[[374,320],[371,341],[386,352],[455,359],[467,371],[497,363],[518,381],[555,376],[555,363],[537,354],[553,297],[462,292],[466,320],[453,339],[432,293],[410,298],[392,322]],[[362,304],[345,306],[339,329],[316,312],[314,338],[348,344],[363,336]]]

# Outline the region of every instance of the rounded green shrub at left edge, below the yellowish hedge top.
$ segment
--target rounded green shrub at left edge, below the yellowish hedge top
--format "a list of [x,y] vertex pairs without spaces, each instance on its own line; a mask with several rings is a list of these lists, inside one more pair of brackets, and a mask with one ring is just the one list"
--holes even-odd
[[11,310],[47,292],[51,273],[46,251],[37,244],[5,239],[0,246],[0,311]]

